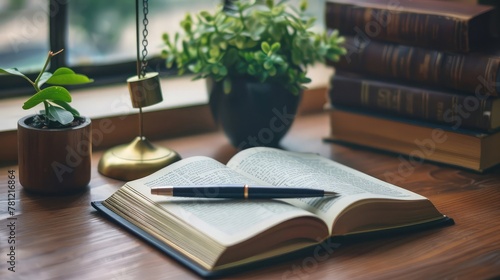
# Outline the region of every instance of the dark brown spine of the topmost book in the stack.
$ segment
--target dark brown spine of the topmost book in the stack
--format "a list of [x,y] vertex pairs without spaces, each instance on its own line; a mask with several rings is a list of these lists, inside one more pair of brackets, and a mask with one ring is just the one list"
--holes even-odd
[[[327,2],[327,28],[342,34],[364,33],[375,40],[390,41],[447,51],[471,50],[470,20],[448,14],[404,10],[398,1],[388,1],[386,7],[365,7],[356,3]],[[429,5],[423,4],[423,5]],[[474,29],[475,30],[475,29]],[[482,30],[481,32],[484,32]]]

